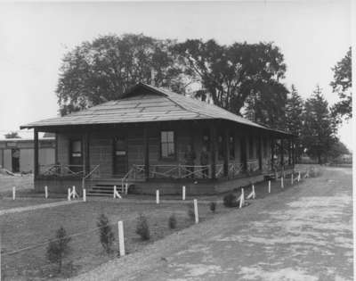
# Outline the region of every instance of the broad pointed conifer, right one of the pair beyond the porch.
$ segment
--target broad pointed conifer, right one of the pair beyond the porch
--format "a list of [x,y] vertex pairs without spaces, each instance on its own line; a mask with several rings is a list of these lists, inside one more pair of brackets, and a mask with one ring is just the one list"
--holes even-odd
[[336,122],[319,86],[305,102],[303,122],[303,146],[306,153],[321,164],[328,158],[329,150],[337,139]]

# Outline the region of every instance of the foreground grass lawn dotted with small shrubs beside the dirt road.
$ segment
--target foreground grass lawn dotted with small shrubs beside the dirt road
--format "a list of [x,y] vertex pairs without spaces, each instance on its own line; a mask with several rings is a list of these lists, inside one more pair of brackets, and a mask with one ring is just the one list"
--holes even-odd
[[[55,267],[45,259],[48,239],[54,238],[55,231],[63,226],[72,236],[70,247],[72,251],[66,260],[69,275],[93,269],[101,263],[115,258],[117,251],[108,256],[99,243],[96,228],[97,218],[101,213],[108,216],[113,223],[117,246],[117,221],[124,221],[125,250],[127,253],[140,251],[149,243],[170,235],[184,227],[189,227],[193,221],[188,217],[187,203],[133,203],[133,202],[79,202],[71,205],[47,208],[44,210],[20,212],[0,216],[2,231],[2,268],[5,279],[28,280],[47,279],[55,274]],[[199,219],[204,221],[213,216],[229,211],[222,205],[217,206],[216,213],[209,210],[208,204],[199,204]],[[142,242],[135,234],[136,219],[143,213],[150,225],[151,239]],[[168,218],[175,214],[177,228],[168,227]],[[44,244],[23,252],[13,253],[21,248],[35,244]],[[6,254],[6,252],[8,254]],[[54,272],[54,273],[53,273]],[[64,277],[64,276],[62,276]]]

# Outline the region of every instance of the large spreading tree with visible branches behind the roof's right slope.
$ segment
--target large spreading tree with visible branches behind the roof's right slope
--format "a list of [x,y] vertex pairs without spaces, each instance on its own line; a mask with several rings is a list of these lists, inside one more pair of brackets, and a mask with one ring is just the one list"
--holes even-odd
[[280,87],[286,71],[283,54],[272,43],[219,45],[190,39],[174,45],[174,52],[184,73],[206,90],[201,93],[209,93],[214,104],[239,115],[248,96],[274,93],[271,88]]

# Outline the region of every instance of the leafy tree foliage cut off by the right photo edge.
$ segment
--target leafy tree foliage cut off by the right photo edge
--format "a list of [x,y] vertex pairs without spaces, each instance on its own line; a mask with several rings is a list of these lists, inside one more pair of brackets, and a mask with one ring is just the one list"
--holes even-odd
[[336,103],[332,112],[335,116],[344,116],[346,119],[352,118],[352,53],[351,47],[344,58],[336,63],[332,69],[334,71],[334,81],[330,83],[333,92],[337,93],[340,101]]

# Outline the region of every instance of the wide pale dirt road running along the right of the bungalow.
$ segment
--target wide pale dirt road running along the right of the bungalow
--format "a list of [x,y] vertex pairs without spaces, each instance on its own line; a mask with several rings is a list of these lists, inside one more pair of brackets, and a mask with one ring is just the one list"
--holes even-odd
[[76,280],[352,280],[352,169],[167,236]]

